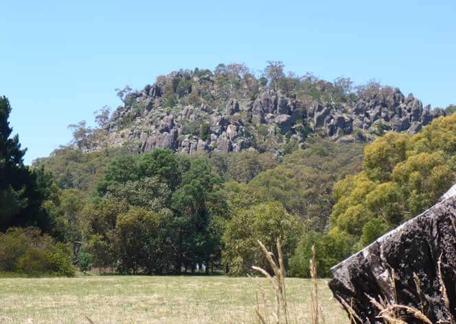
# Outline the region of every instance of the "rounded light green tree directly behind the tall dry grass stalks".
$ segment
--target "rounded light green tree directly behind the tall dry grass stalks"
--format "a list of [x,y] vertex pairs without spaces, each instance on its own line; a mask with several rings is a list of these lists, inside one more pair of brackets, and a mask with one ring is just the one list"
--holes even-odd
[[251,273],[253,265],[269,269],[258,240],[269,251],[275,251],[277,238],[282,240],[285,264],[288,266],[300,234],[301,225],[298,219],[288,214],[281,203],[260,203],[235,210],[231,213],[223,236],[225,267],[231,275]]

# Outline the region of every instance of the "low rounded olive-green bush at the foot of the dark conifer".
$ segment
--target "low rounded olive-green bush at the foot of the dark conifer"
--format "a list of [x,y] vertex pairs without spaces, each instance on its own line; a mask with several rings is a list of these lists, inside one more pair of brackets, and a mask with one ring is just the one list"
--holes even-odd
[[0,234],[0,271],[71,277],[71,251],[36,228],[12,227]]

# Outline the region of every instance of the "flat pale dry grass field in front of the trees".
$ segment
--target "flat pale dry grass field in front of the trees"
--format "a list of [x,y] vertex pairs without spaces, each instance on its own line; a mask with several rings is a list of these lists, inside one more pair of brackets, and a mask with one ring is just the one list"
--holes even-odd
[[[297,323],[311,323],[310,284],[286,279]],[[0,279],[0,323],[89,323],[84,316],[97,324],[253,323],[255,291],[261,296],[262,290],[269,297],[264,278],[7,278]],[[323,279],[319,297],[326,323],[347,323]]]

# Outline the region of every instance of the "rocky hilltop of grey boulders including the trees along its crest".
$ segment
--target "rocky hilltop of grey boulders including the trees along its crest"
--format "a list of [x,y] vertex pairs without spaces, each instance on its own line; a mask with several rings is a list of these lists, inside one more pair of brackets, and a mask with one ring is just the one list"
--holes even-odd
[[239,64],[220,64],[214,71],[158,77],[143,90],[119,90],[124,104],[103,125],[103,141],[135,143],[140,153],[156,147],[283,153],[312,133],[365,141],[390,130],[414,134],[444,115],[398,88],[370,83],[355,91],[350,79],[286,76],[280,62],[269,63],[262,77]]

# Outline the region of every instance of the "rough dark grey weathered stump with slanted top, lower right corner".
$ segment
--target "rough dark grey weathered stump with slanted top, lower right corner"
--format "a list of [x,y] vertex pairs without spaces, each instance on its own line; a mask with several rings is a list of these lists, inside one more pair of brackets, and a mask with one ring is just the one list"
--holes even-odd
[[[441,292],[440,256],[449,309]],[[396,292],[391,288],[393,271]],[[426,316],[433,323],[455,323],[451,319],[456,319],[456,186],[426,212],[334,266],[332,273],[329,286],[334,297],[352,305],[363,323],[383,323],[366,295],[380,296],[390,303],[397,298],[397,303],[421,310],[413,273],[420,279]],[[423,323],[413,317],[405,321]]]

